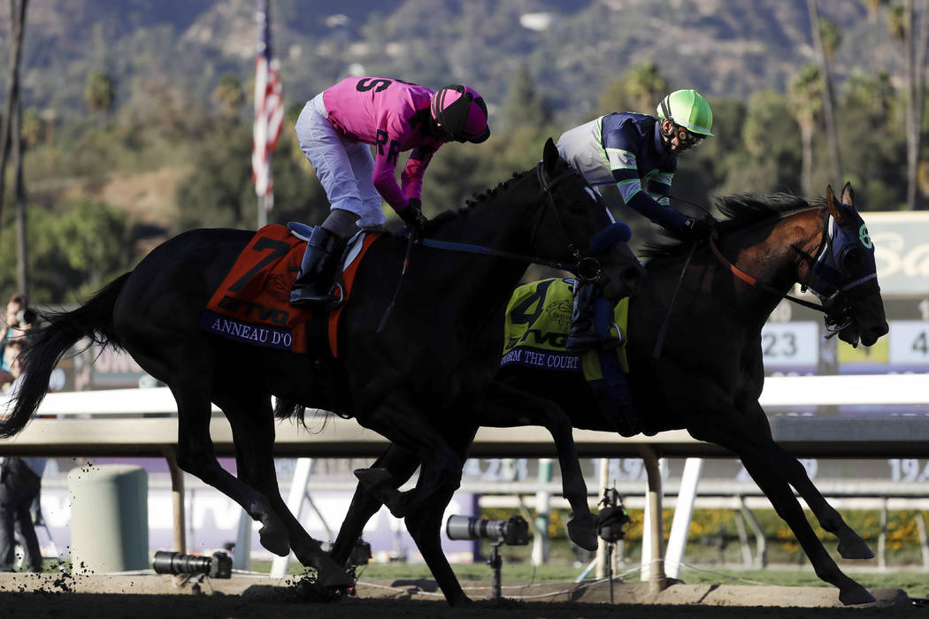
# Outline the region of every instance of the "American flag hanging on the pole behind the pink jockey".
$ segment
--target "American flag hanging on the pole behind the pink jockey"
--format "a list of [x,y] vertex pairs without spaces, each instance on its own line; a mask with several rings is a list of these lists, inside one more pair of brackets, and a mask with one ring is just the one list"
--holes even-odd
[[265,209],[274,205],[274,182],[271,178],[271,153],[278,145],[283,122],[281,77],[278,60],[271,55],[268,26],[268,0],[258,1],[258,56],[255,58],[255,128],[252,148],[252,179],[255,194],[265,198]]

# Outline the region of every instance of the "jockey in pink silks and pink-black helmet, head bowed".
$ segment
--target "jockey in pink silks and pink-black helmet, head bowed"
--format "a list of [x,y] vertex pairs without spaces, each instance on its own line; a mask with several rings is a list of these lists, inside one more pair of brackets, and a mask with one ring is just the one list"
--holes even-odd
[[[349,77],[327,88],[307,103],[295,129],[331,210],[307,242],[291,291],[297,305],[334,300],[319,276],[339,239],[359,227],[384,226],[381,200],[412,229],[422,228],[423,175],[439,147],[452,140],[479,144],[491,135],[487,105],[475,90],[452,84],[433,92],[383,77]],[[412,153],[398,185],[405,150]]]

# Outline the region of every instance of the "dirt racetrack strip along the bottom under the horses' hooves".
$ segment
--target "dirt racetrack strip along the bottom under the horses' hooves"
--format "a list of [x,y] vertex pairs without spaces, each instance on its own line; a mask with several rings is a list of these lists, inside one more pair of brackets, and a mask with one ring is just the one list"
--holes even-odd
[[929,616],[922,600],[910,600],[899,589],[876,589],[877,602],[842,607],[831,587],[750,587],[673,584],[661,593],[647,583],[617,583],[609,603],[608,583],[519,584],[504,582],[500,603],[486,600],[488,583],[463,583],[476,600],[466,608],[449,608],[432,581],[361,581],[357,595],[333,602],[307,601],[294,579],[233,574],[208,580],[202,593],[190,583],[177,587],[172,576],[0,574],[0,616],[93,617],[143,619],[159,617],[450,617],[455,619],[615,619],[784,618]]

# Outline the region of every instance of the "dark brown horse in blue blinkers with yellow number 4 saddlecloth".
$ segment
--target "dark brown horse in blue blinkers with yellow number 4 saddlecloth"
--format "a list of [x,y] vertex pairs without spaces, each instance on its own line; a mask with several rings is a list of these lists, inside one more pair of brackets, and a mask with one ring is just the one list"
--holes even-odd
[[[774,442],[758,403],[765,380],[761,329],[794,282],[805,283],[825,298],[827,324],[845,342],[870,346],[887,332],[873,248],[854,210],[849,185],[842,201],[844,205],[834,199],[831,187],[819,206],[790,196],[721,200],[721,211],[729,218],[717,227],[718,246],[714,242],[693,253],[658,358],[656,342],[689,246],[673,244],[650,251],[647,281],[630,301],[626,352],[633,406],[642,431],[652,435],[685,428],[694,438],[722,445],[741,458],[790,525],[819,578],[838,587],[845,604],[857,604],[874,598],[832,561],[791,486],[804,497],[822,528],[839,538],[844,558],[868,559],[873,554],[826,502],[797,459]],[[603,401],[581,374],[508,366],[498,378],[557,402],[574,427],[615,431],[609,419],[618,419],[616,411],[603,410]],[[516,415],[504,421],[500,418],[492,425],[548,425],[547,419]],[[452,437],[463,458],[477,427],[477,423],[461,423]],[[563,432],[561,427],[548,427]],[[417,464],[412,454],[395,445],[374,466],[403,481]],[[335,561],[347,560],[364,522],[377,509],[377,499],[359,487],[334,544]],[[434,563],[445,559],[438,540],[428,554],[420,549],[433,574],[440,573]],[[443,590],[450,587],[441,581],[438,585]]]

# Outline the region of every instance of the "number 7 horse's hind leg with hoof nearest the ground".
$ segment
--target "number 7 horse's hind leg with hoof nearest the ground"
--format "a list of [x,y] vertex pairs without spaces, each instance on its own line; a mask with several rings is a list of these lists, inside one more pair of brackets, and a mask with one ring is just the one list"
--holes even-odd
[[[241,382],[239,384],[246,384]],[[236,466],[243,483],[268,497],[271,509],[280,517],[290,539],[297,561],[316,568],[317,584],[322,587],[351,587],[352,580],[320,547],[320,543],[307,534],[294,518],[281,497],[277,474],[274,471],[274,411],[270,395],[256,391],[242,391],[230,386],[216,390],[216,406],[222,408],[236,446]],[[262,541],[264,545],[264,540]],[[267,548],[267,547],[266,547]]]

